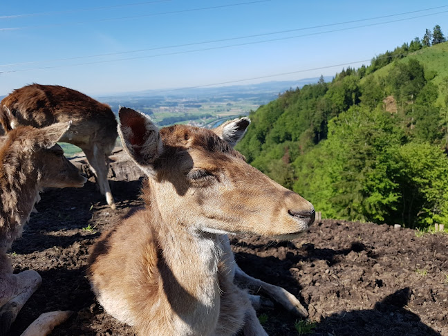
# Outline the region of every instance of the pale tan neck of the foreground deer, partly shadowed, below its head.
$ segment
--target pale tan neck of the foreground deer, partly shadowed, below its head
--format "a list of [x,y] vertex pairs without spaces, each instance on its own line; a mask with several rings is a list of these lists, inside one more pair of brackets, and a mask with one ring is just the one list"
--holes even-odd
[[216,323],[220,302],[218,263],[222,257],[219,236],[197,232],[174,219],[161,223],[157,231],[160,275],[171,307],[183,319]]

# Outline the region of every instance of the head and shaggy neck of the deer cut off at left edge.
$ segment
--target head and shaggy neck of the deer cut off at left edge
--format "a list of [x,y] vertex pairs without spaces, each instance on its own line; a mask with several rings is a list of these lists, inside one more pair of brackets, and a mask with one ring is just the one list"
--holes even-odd
[[[0,149],[0,246],[9,248],[21,234],[44,187],[80,187],[86,179],[55,144],[67,125],[19,127]],[[53,133],[51,133],[53,132]],[[59,132],[59,133],[58,133]]]

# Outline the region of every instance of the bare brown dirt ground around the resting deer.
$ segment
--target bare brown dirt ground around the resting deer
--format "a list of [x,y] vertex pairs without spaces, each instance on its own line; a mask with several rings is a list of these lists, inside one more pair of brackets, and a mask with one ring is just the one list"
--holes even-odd
[[[41,195],[39,214],[10,256],[15,272],[37,270],[43,282],[10,335],[50,310],[75,312],[53,335],[134,335],[102,310],[85,277],[88,248],[100,232],[142,205],[138,181],[111,185],[116,210],[93,183]],[[448,235],[324,220],[295,241],[235,237],[232,244],[245,272],[300,299],[314,335],[448,335]],[[269,335],[297,335],[297,317],[283,308],[261,314]]]

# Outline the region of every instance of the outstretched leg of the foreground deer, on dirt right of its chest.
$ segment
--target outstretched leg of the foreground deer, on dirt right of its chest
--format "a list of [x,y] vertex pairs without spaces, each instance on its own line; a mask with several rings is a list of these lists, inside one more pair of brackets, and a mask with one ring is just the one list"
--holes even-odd
[[308,311],[306,311],[306,308],[302,306],[297,297],[288,292],[288,290],[250,277],[250,275],[245,274],[245,272],[243,272],[238,265],[236,265],[235,268],[235,279],[247,285],[248,288],[259,290],[265,295],[268,295],[272,301],[277,302],[277,304],[280,304],[293,314],[300,317],[308,317]]

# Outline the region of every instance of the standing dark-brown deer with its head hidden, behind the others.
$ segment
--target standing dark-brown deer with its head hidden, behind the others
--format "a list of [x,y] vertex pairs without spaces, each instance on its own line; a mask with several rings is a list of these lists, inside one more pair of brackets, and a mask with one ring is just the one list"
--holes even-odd
[[69,120],[72,126],[60,141],[84,151],[101,194],[115,209],[107,174],[118,133],[115,115],[108,105],[71,88],[41,84],[18,88],[0,102],[0,123],[6,133],[20,125],[40,128]]

